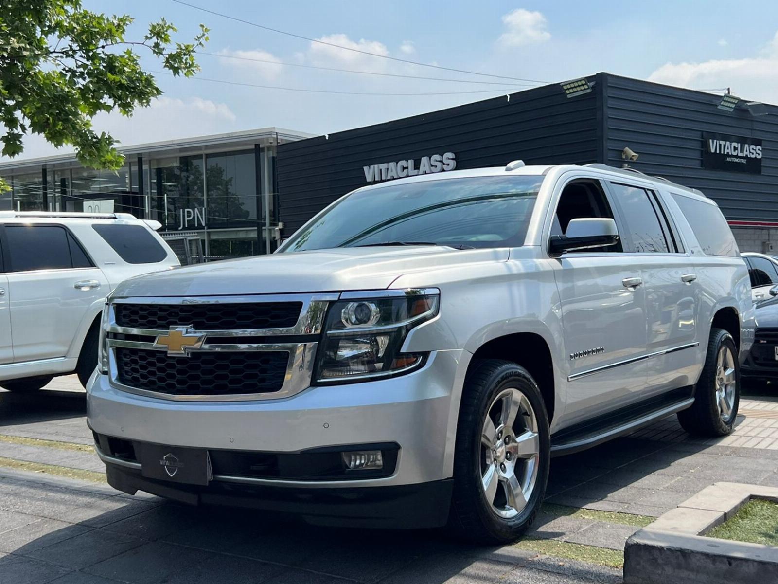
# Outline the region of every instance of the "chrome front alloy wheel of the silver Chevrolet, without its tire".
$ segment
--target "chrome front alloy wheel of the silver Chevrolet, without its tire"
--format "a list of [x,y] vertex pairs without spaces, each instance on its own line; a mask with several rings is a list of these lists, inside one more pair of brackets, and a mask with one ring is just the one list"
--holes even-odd
[[481,431],[481,485],[492,512],[504,519],[527,505],[538,479],[538,420],[524,393],[496,396]]

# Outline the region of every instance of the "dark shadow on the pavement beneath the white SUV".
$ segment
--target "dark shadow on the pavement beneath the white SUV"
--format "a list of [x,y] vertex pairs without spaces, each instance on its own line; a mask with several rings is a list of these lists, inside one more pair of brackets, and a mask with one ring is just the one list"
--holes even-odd
[[86,416],[86,393],[42,389],[30,393],[0,390],[0,426]]

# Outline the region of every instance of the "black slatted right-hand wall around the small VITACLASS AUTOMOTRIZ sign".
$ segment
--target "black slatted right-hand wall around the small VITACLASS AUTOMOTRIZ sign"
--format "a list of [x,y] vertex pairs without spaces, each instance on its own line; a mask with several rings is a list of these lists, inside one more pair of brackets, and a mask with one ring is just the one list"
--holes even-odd
[[[721,96],[618,76],[602,78],[607,124],[606,164],[619,167],[629,146],[630,166],[699,188],[730,221],[778,221],[778,107],[754,116],[720,110]],[[762,139],[762,174],[703,168],[703,132]]]

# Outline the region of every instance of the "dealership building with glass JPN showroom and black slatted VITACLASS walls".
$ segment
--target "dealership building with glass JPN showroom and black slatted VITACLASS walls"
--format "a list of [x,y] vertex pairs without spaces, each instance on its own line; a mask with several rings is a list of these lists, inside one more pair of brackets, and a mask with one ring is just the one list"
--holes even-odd
[[[778,251],[778,106],[598,73],[329,135],[278,128],[0,164],[0,209],[114,210],[163,223],[187,257],[272,252],[354,188],[475,167],[608,164],[715,200],[741,251]],[[635,158],[634,155],[637,155]]]

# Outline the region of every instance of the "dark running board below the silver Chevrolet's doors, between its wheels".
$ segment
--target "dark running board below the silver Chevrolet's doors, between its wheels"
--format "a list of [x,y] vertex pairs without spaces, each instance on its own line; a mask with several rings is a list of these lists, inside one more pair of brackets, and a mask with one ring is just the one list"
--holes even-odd
[[629,434],[656,420],[685,410],[694,403],[692,387],[675,389],[664,396],[575,424],[551,437],[551,455],[562,456],[591,448],[611,438]]

